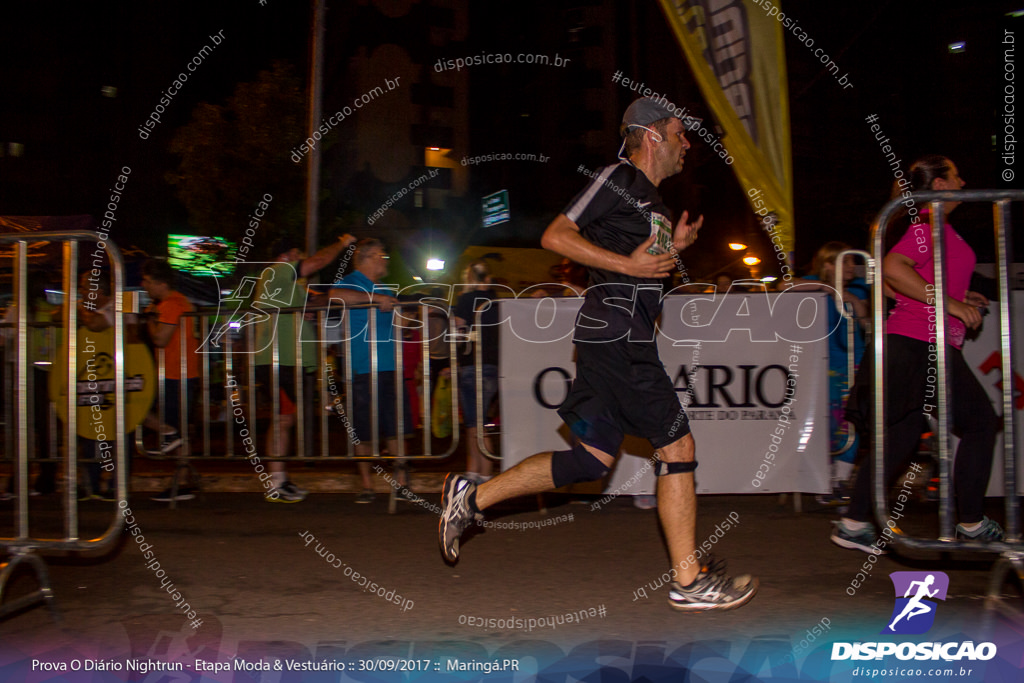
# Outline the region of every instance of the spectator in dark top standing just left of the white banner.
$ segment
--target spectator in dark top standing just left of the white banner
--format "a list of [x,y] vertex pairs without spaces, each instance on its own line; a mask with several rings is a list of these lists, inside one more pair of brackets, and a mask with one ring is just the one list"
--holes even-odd
[[[455,323],[468,343],[460,344],[459,399],[466,425],[466,478],[482,483],[490,478],[490,460],[480,451],[476,414],[476,376],[482,385],[483,422],[486,423],[490,402],[498,394],[498,293],[492,287],[490,268],[484,261],[474,261],[463,272],[462,282],[468,288],[455,303]],[[480,344],[481,360],[476,362],[476,344]],[[487,451],[490,439],[484,437]]]

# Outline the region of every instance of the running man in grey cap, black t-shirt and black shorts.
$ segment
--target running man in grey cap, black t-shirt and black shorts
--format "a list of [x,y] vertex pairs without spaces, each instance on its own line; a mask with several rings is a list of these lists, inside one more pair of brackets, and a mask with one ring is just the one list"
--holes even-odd
[[[455,562],[459,537],[482,518],[481,511],[501,501],[604,477],[624,435],[634,434],[647,438],[658,457],[658,517],[675,580],[670,606],[730,609],[754,597],[758,582],[749,575],[729,578],[694,560],[693,436],[654,336],[660,280],[675,267],[676,253],[697,239],[703,222],[702,216],[687,222],[684,211],[672,229],[657,191],[663,180],[683,169],[690,145],[683,122],[646,97],[626,110],[620,132],[625,137],[622,162],[595,174],[541,240],[546,249],[587,266],[590,273],[573,337],[577,377],[558,409],[577,443],[531,456],[479,485],[449,474],[438,528],[441,552]],[[632,303],[606,303],[618,298]]]

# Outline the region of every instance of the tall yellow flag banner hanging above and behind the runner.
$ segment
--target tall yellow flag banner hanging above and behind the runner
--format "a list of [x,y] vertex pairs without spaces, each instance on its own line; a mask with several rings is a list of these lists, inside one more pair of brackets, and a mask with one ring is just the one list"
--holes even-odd
[[[751,208],[792,260],[793,162],[782,25],[759,0],[660,0]],[[774,3],[776,6],[778,3]],[[774,220],[770,217],[774,214]]]

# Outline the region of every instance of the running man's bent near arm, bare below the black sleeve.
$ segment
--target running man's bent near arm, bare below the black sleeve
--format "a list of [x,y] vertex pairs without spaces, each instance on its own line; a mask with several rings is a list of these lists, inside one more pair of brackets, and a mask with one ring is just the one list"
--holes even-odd
[[629,256],[602,249],[580,234],[580,226],[563,213],[551,221],[541,238],[541,246],[577,263],[602,268],[634,278],[668,278],[675,268],[672,254],[652,256],[647,249],[654,244],[651,236]]

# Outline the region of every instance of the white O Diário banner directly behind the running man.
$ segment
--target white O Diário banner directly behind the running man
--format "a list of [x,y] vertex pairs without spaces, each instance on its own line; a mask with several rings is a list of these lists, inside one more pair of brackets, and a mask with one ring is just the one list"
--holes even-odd
[[[572,328],[582,303],[501,301],[506,469],[570,447],[555,411],[575,376]],[[658,348],[687,403],[697,493],[830,489],[827,305],[824,294],[807,292],[667,297]],[[646,440],[628,437],[604,490],[653,493],[652,454]]]

